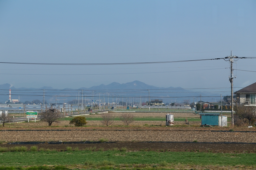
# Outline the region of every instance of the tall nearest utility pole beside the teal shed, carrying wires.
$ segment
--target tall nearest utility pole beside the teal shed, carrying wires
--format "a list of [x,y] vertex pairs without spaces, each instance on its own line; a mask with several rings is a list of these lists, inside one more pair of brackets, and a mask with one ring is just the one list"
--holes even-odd
[[[226,59],[228,59],[229,63],[230,63],[230,76],[229,76],[229,81],[231,83],[231,126],[234,126],[234,101],[233,101],[233,79],[234,79],[234,74],[233,74],[233,62],[234,62],[234,58],[238,58],[237,56],[232,56],[232,51],[231,51],[231,55],[225,57]],[[226,61],[226,60],[225,60]],[[236,77],[235,77],[236,78]]]

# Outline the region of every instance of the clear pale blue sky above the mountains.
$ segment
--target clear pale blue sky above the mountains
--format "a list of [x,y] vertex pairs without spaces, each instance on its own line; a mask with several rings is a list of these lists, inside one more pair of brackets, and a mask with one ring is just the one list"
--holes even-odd
[[[0,62],[157,62],[222,58],[231,50],[239,57],[255,57],[255,9],[254,0],[0,0]],[[255,66],[256,59],[234,63],[240,70],[256,71]],[[63,89],[139,80],[158,87],[229,87],[228,67],[224,60],[0,64],[0,84]],[[234,87],[256,82],[255,72],[234,73]]]

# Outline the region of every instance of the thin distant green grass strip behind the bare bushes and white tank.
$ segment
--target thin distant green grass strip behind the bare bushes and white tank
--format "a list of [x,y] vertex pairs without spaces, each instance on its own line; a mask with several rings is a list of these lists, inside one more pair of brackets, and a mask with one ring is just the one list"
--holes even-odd
[[[60,121],[70,121],[72,120],[74,117],[63,117],[60,118]],[[102,118],[101,117],[86,117],[87,121],[101,121]],[[115,117],[114,119],[115,121],[120,121],[120,119],[118,117]],[[155,118],[155,117],[135,117],[134,118],[135,121],[165,121],[165,118]],[[174,118],[174,121],[184,121],[185,118]],[[201,121],[201,119],[196,119],[196,118],[188,118],[188,121]]]

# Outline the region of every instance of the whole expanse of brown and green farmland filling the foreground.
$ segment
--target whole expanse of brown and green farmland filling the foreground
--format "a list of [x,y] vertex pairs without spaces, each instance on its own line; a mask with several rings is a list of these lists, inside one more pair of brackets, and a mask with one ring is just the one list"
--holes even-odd
[[[115,120],[108,127],[100,114],[86,115],[88,123],[83,127],[69,124],[73,117],[61,118],[52,127],[41,121],[6,123],[0,129],[0,151],[15,147],[28,151],[2,152],[1,164],[12,169],[255,168],[255,128],[201,127],[199,115],[192,113],[174,113],[174,126],[165,126],[165,113],[132,113],[135,121],[124,126],[121,114],[112,114]],[[189,125],[184,123],[186,118]],[[7,144],[31,141],[42,143]],[[36,152],[29,151],[33,146]]]

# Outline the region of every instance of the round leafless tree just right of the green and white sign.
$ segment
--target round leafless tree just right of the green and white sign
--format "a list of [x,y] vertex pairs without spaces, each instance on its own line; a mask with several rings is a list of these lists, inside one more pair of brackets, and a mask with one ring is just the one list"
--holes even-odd
[[62,115],[57,109],[50,108],[42,113],[41,120],[44,122],[48,122],[48,125],[51,126],[53,122],[58,122],[58,119],[61,117]]

